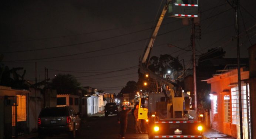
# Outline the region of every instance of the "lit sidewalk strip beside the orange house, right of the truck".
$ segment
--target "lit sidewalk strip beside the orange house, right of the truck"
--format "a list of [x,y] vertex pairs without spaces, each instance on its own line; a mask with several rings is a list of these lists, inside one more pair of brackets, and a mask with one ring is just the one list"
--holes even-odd
[[232,136],[220,133],[212,128],[206,129],[206,131],[203,133],[204,139],[236,139]]

